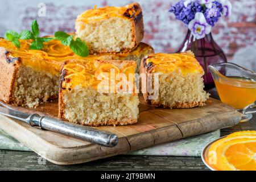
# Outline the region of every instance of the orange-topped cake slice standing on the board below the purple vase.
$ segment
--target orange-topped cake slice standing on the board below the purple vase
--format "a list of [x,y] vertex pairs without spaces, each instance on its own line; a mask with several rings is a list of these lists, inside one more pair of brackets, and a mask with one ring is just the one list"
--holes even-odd
[[[190,108],[204,106],[209,98],[204,91],[204,70],[192,52],[148,55],[142,59],[141,73],[148,76],[147,85],[142,82],[148,104],[170,109]],[[154,77],[155,73],[158,76]]]

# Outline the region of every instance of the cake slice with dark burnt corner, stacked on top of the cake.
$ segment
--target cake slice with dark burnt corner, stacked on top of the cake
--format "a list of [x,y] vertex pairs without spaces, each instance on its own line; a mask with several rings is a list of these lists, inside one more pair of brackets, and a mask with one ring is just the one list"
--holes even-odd
[[138,3],[86,10],[77,16],[76,34],[90,53],[129,52],[143,39],[143,16]]

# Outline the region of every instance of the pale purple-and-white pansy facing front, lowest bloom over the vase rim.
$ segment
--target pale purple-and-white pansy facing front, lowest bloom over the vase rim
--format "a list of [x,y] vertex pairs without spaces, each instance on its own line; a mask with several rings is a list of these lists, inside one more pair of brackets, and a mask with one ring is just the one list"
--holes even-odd
[[191,30],[195,39],[201,39],[210,33],[212,27],[207,23],[204,14],[197,12],[195,18],[189,22],[188,29]]

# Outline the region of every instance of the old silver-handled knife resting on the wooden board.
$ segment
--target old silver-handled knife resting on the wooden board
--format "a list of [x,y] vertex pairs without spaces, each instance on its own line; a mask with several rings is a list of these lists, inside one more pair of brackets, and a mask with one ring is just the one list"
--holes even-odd
[[44,117],[39,114],[27,114],[0,106],[0,114],[28,123],[30,126],[39,126],[41,129],[61,133],[75,138],[97,143],[101,146],[114,147],[118,143],[117,135],[100,131],[89,126],[77,125],[61,121],[60,119]]

